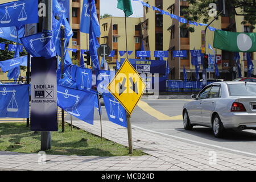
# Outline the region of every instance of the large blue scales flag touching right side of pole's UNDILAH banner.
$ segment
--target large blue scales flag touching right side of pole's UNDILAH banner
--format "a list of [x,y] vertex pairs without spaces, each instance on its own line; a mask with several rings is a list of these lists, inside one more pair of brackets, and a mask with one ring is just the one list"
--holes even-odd
[[94,101],[96,93],[77,90],[66,86],[57,86],[57,104],[67,113],[93,125]]

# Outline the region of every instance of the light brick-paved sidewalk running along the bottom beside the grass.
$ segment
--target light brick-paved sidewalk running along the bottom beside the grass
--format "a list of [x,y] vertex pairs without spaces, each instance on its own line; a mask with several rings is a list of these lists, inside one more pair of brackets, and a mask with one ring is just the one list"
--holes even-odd
[[[80,129],[100,136],[100,122],[94,125],[73,121]],[[109,121],[102,121],[103,137],[127,146],[127,129]],[[133,128],[134,149],[149,155],[131,157],[63,156],[47,155],[46,164],[38,164],[37,154],[0,152],[0,169],[26,170],[255,170],[256,158],[193,143],[162,137]],[[211,154],[211,155],[209,155]],[[217,160],[213,160],[216,155]],[[216,164],[215,164],[216,162]]]

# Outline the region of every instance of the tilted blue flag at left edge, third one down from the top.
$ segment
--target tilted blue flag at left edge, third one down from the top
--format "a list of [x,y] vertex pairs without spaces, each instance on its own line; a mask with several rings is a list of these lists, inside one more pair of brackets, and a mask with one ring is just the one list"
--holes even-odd
[[0,67],[3,72],[7,72],[15,67],[27,66],[27,56],[16,57],[13,59],[0,61]]

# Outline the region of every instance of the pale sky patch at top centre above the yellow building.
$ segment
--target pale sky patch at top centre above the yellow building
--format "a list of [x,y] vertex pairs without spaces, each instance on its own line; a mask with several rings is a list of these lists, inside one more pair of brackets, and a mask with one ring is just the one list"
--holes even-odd
[[[133,15],[129,17],[143,17],[143,6],[139,1],[132,1],[131,5],[133,6]],[[117,9],[117,0],[101,0],[100,2],[100,14],[110,14],[112,16],[121,16],[124,17],[125,14],[122,10]]]

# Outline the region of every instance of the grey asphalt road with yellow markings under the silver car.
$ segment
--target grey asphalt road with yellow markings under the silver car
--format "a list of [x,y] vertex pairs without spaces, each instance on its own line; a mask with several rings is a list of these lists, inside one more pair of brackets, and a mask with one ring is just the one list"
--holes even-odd
[[[254,130],[228,131],[222,139],[213,137],[212,130],[207,127],[195,126],[192,131],[184,130],[181,112],[183,105],[188,101],[142,100],[144,104],[137,106],[131,117],[132,126],[164,137],[256,157],[256,131]],[[162,115],[159,116],[158,112]],[[166,119],[166,117],[169,118]],[[66,119],[69,117],[67,116]],[[102,106],[102,119],[108,120],[104,106]],[[97,111],[94,112],[94,120],[100,120]]]

